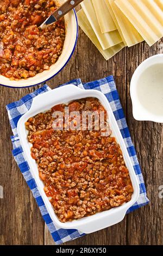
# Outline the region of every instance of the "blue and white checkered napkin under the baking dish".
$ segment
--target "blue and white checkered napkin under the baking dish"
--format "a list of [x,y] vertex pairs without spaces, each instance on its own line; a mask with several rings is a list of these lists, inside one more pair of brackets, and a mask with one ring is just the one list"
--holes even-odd
[[[66,84],[74,84],[83,89],[100,90],[102,93],[105,94],[106,98],[110,102],[110,106],[117,120],[117,124],[122,133],[122,137],[126,144],[131,162],[133,163],[134,170],[140,185],[140,197],[137,200],[137,202],[133,206],[131,206],[128,212],[133,211],[137,208],[140,208],[143,205],[146,205],[149,202],[149,200],[147,198],[145,184],[143,181],[139,162],[137,161],[135,148],[133,143],[131,142],[130,133],[127,127],[126,119],[123,114],[123,109],[120,103],[120,99],[118,97],[118,93],[114,83],[114,78],[112,76],[109,76],[109,77],[103,78],[102,80],[85,83],[85,84],[82,84],[82,81],[78,79],[78,80],[70,81]],[[62,86],[65,86],[65,84],[62,84]],[[52,222],[51,217],[49,216],[48,211],[46,209],[46,206],[43,203],[39,190],[37,189],[36,182],[32,174],[30,173],[28,163],[24,157],[20,140],[17,135],[17,122],[21,118],[21,116],[28,111],[28,109],[32,105],[33,98],[40,93],[47,92],[48,90],[51,90],[51,89],[45,84],[45,86],[43,86],[42,88],[35,90],[34,93],[28,94],[22,97],[21,100],[18,100],[16,102],[13,102],[7,105],[7,111],[9,115],[11,129],[12,129],[12,132],[14,133],[14,136],[11,136],[11,141],[13,145],[12,154],[14,155],[14,158],[18,164],[18,167],[20,168],[24,176],[24,179],[27,181],[27,184],[30,187],[33,193],[33,196],[36,199],[37,204],[39,205],[42,217],[45,220],[47,227],[51,232],[55,243],[59,245],[63,242],[83,236],[84,234],[76,229],[69,229],[69,230],[58,229],[55,226],[55,224]]]

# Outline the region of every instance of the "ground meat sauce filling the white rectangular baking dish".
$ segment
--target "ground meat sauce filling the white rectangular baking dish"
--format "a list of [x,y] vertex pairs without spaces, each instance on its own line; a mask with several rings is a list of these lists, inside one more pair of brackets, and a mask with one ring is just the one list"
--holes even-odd
[[[92,97],[70,102],[68,106],[69,111],[80,111],[81,117],[85,110],[105,111]],[[120,145],[111,134],[103,137],[100,130],[52,129],[53,112],[64,112],[64,107],[54,106],[26,122],[31,155],[61,222],[120,206],[133,193]]]

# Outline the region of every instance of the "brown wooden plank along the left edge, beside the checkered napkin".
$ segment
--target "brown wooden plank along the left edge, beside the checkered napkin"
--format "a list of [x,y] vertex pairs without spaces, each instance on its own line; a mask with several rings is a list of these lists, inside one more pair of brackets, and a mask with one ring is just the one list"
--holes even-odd
[[0,199],[0,244],[1,245],[42,245],[43,220],[35,199],[26,184],[14,157],[11,155],[12,135],[5,105],[32,92],[34,88],[0,88],[1,130],[0,185],[4,198]]

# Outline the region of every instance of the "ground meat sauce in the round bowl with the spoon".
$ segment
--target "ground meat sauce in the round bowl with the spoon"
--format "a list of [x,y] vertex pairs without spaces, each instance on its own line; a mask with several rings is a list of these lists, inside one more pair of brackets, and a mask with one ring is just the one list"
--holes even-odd
[[0,0],[0,74],[33,77],[57,62],[65,41],[64,18],[41,30],[57,9],[50,0]]

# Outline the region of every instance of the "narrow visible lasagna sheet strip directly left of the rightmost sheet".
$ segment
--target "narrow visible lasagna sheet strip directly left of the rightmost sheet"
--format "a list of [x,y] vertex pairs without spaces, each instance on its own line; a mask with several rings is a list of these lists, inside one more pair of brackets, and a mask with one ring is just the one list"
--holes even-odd
[[[115,4],[115,0],[107,0],[110,4],[112,12],[115,15],[115,19],[117,20],[118,27],[123,34],[124,41],[127,46],[133,46],[142,42],[144,39],[140,35],[140,33],[136,30],[136,28],[132,25],[132,23],[127,19],[127,17],[122,13],[122,11]],[[126,1],[124,1],[126,2]]]

